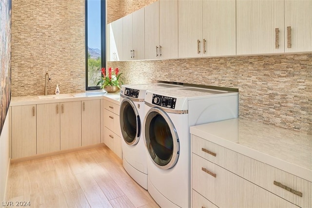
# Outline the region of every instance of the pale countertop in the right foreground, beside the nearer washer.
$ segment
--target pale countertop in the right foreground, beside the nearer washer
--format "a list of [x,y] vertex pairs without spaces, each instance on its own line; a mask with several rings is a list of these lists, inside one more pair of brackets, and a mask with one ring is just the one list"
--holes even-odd
[[192,126],[190,132],[312,182],[312,135],[241,118]]

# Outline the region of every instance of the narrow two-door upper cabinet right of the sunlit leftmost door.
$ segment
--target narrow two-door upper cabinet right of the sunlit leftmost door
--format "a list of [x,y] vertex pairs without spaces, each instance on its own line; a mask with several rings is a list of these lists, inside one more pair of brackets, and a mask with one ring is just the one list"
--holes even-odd
[[144,8],[123,19],[123,60],[145,59],[144,54]]

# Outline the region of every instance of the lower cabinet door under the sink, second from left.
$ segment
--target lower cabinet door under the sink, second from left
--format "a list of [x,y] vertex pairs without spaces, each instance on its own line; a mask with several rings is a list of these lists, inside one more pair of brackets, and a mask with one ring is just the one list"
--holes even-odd
[[37,105],[37,153],[59,151],[59,103]]

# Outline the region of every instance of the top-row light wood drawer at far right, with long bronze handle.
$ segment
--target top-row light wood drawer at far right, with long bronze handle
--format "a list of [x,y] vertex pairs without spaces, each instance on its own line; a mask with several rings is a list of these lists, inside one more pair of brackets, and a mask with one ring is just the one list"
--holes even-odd
[[[239,176],[297,206],[312,207],[312,183],[310,181],[239,153],[237,153],[237,160]],[[301,193],[302,196],[298,196]]]

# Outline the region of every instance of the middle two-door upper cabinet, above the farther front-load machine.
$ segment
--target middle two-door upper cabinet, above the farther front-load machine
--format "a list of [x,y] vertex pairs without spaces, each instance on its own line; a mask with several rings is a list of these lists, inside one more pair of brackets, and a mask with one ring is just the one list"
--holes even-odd
[[177,0],[145,7],[145,59],[178,57]]

